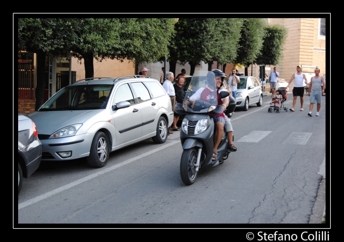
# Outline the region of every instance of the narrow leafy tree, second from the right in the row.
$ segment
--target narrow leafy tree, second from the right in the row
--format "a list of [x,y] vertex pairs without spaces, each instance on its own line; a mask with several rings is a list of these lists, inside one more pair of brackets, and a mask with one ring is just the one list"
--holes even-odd
[[248,75],[248,66],[252,64],[260,54],[265,35],[264,27],[267,24],[262,18],[245,18],[240,31],[239,49],[235,63],[245,65],[245,75]]

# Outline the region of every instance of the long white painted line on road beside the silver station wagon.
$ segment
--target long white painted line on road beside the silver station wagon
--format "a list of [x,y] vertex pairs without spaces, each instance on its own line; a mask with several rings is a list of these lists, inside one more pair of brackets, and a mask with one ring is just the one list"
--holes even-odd
[[25,208],[25,207],[27,207],[27,206],[29,206],[29,205],[31,205],[31,204],[34,204],[34,203],[36,203],[36,202],[38,202],[38,201],[41,201],[41,200],[43,200],[43,199],[46,199],[46,198],[48,198],[48,197],[51,197],[51,196],[53,196],[53,195],[55,195],[55,194],[57,194],[57,193],[59,193],[59,192],[61,192],[61,191],[67,190],[67,189],[69,189],[69,188],[71,188],[71,187],[73,187],[73,186],[79,185],[80,183],[83,183],[83,182],[85,182],[85,181],[91,180],[91,179],[93,179],[93,178],[95,178],[95,177],[98,177],[98,176],[100,176],[100,175],[103,175],[103,174],[105,174],[105,173],[107,173],[107,172],[109,172],[109,171],[115,170],[115,169],[117,169],[117,168],[119,168],[119,167],[121,167],[121,166],[127,165],[127,164],[129,164],[129,163],[131,163],[131,162],[133,162],[133,161],[135,161],[135,160],[138,160],[138,159],[143,158],[144,156],[150,155],[150,154],[155,153],[155,152],[157,152],[157,151],[161,151],[161,150],[163,150],[163,149],[165,149],[165,148],[167,148],[167,147],[169,147],[169,146],[172,146],[172,145],[174,145],[174,144],[177,144],[177,143],[180,143],[180,141],[179,141],[179,140],[178,140],[178,141],[172,141],[172,142],[169,143],[169,144],[166,144],[166,145],[161,146],[161,147],[159,147],[159,148],[156,148],[156,149],[154,149],[154,150],[145,152],[145,153],[143,153],[143,154],[141,154],[141,155],[139,155],[139,156],[133,157],[133,158],[131,158],[131,159],[129,159],[129,160],[126,160],[126,161],[123,161],[123,162],[121,162],[121,163],[119,163],[119,164],[116,164],[116,165],[113,165],[113,166],[111,166],[111,167],[105,168],[105,169],[102,170],[102,171],[96,172],[96,173],[94,173],[94,174],[92,174],[92,175],[89,175],[89,176],[84,177],[84,178],[82,178],[82,179],[79,179],[79,180],[77,180],[77,181],[73,181],[73,182],[71,182],[71,183],[69,183],[69,184],[67,184],[67,185],[61,186],[61,187],[59,187],[59,188],[57,188],[57,189],[54,189],[54,190],[52,190],[52,191],[50,191],[50,192],[46,192],[46,193],[44,193],[44,194],[42,194],[42,195],[40,195],[40,196],[37,196],[37,197],[32,198],[32,199],[29,199],[28,201],[25,201],[25,202],[23,202],[23,203],[18,204],[18,210],[23,209],[23,208]]

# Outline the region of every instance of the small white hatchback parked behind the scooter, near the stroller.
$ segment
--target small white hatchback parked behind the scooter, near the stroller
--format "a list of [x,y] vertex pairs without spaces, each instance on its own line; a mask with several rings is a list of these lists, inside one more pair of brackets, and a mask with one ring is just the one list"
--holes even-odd
[[250,104],[257,103],[260,107],[263,104],[263,92],[259,81],[254,76],[239,76],[240,83],[236,91],[236,108],[247,111]]

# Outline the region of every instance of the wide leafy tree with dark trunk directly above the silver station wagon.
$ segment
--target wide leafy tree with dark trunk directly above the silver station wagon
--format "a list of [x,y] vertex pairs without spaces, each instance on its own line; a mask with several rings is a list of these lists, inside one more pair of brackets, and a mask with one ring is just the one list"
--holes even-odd
[[84,59],[86,78],[93,76],[93,58],[156,62],[168,54],[174,32],[173,19],[83,19],[77,32],[80,42],[72,55]]

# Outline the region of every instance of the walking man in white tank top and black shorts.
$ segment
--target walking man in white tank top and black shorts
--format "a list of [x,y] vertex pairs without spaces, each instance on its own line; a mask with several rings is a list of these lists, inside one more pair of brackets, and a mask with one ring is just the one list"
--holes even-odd
[[301,67],[299,65],[296,66],[296,70],[297,70],[297,72],[291,76],[291,78],[288,82],[288,86],[287,86],[287,88],[288,88],[291,81],[293,79],[295,79],[294,88],[292,90],[292,95],[293,95],[292,108],[289,109],[292,112],[295,112],[295,105],[296,105],[297,96],[300,96],[300,102],[301,102],[300,111],[303,111],[303,93],[305,92],[305,88],[303,86],[303,79],[305,79],[306,84],[308,82],[306,75],[301,72]]

